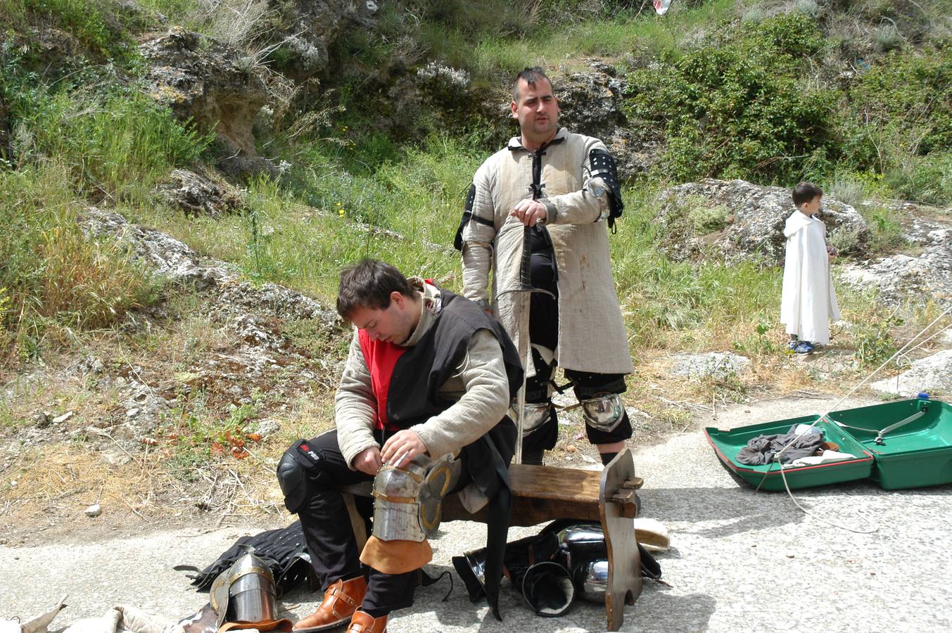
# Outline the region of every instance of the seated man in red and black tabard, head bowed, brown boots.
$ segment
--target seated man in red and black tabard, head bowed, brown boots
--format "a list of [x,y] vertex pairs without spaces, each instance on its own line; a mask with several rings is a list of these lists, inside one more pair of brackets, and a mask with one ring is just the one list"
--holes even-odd
[[[278,465],[285,504],[301,519],[325,588],[323,602],[294,630],[310,633],[349,621],[347,631],[379,633],[391,611],[413,603],[419,568],[431,550],[419,526],[407,527],[407,515],[398,513],[378,516],[374,537],[358,552],[338,487],[373,480],[382,467],[407,473],[427,457],[452,462],[458,454],[458,479],[445,488],[460,491],[470,511],[504,500],[504,507],[488,508],[496,518],[489,534],[497,534],[501,569],[506,468],[516,437],[506,409],[523,374],[505,330],[480,307],[430,282],[407,280],[382,262],[364,260],[341,272],[337,311],[356,326],[337,388],[337,428],[291,446]],[[407,482],[414,477],[403,476]],[[385,479],[375,483],[378,508],[387,501],[379,489]],[[384,507],[407,502],[413,499],[393,498]],[[491,595],[489,600],[496,613]]]

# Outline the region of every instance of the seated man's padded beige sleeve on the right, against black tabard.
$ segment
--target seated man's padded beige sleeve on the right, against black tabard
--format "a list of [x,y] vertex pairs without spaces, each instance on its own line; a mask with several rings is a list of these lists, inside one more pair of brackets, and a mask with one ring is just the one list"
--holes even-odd
[[431,457],[475,442],[506,415],[509,384],[503,350],[489,330],[473,334],[466,357],[447,385],[457,380],[463,386],[459,400],[439,415],[410,428],[426,444]]

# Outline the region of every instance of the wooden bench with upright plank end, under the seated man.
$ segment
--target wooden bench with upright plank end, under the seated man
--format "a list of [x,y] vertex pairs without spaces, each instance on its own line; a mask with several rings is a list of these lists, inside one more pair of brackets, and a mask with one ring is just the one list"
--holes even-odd
[[[642,480],[635,477],[631,451],[625,448],[601,471],[513,464],[509,466],[509,484],[510,525],[529,526],[555,519],[602,524],[608,551],[605,623],[607,630],[619,630],[625,619],[625,604],[634,604],[642,592],[641,557],[632,522],[637,514],[635,490]],[[367,532],[353,495],[369,496],[370,489],[370,482],[341,488],[358,548],[363,548]],[[486,511],[469,514],[456,495],[448,495],[442,520],[486,523]]]

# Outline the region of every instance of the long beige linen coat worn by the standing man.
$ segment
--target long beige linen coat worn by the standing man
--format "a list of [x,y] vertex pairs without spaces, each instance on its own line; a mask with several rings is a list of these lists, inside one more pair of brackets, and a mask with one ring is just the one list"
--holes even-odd
[[[559,140],[562,139],[561,142]],[[577,371],[626,374],[634,370],[622,310],[615,294],[605,223],[608,200],[601,179],[589,178],[589,154],[605,149],[597,138],[560,129],[542,158],[546,227],[552,239],[559,274],[560,366]],[[463,227],[463,294],[486,299],[489,271],[493,275],[493,310],[526,357],[526,336],[519,331],[520,311],[528,295],[519,292],[523,224],[509,211],[531,199],[533,153],[513,138],[476,171],[472,213],[491,226],[470,219]],[[596,196],[589,188],[601,190]],[[516,291],[513,291],[516,290]],[[526,368],[531,374],[530,368]]]

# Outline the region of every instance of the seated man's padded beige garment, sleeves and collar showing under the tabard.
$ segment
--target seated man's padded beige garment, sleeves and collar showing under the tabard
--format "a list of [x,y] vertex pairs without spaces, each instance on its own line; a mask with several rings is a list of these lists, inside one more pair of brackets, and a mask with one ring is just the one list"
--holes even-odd
[[[423,285],[418,278],[409,281],[420,289],[423,298],[420,323],[405,345],[414,346],[436,322],[442,303],[439,288]],[[503,348],[492,332],[480,329],[473,334],[466,356],[440,387],[440,394],[456,402],[425,423],[410,427],[426,444],[431,457],[459,450],[499,424],[509,406],[509,381],[503,363]],[[377,399],[370,386],[370,370],[356,329],[334,404],[337,443],[352,469],[353,459],[358,453],[377,445],[373,439]]]

